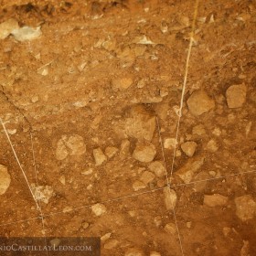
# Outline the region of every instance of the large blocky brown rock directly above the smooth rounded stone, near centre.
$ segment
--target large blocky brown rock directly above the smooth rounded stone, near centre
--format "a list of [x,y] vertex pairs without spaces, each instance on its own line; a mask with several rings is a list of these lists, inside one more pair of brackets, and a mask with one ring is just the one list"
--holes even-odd
[[155,133],[155,116],[144,106],[135,105],[128,112],[124,130],[130,137],[151,142]]

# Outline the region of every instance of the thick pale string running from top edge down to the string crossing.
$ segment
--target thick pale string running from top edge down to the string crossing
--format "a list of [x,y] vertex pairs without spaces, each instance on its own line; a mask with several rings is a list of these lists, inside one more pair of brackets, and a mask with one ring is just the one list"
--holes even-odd
[[174,155],[173,155],[172,166],[171,166],[171,176],[170,176],[171,178],[173,177],[174,165],[175,165],[175,160],[176,160],[176,145],[178,144],[177,139],[178,139],[178,133],[179,133],[179,126],[180,126],[180,120],[181,120],[181,116],[182,116],[185,91],[186,91],[186,87],[187,87],[187,74],[188,74],[191,49],[192,49],[192,45],[193,45],[193,41],[194,41],[198,3],[199,3],[199,0],[196,0],[194,16],[193,16],[193,23],[192,23],[192,28],[191,28],[190,40],[189,40],[189,46],[188,46],[188,51],[187,51],[187,60],[186,60],[186,66],[185,66],[185,75],[184,75],[183,86],[182,86],[180,106],[179,106],[179,110],[178,110],[178,119],[177,119],[177,123],[176,123],[176,144],[175,144],[175,148],[174,148]]

